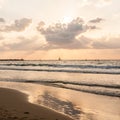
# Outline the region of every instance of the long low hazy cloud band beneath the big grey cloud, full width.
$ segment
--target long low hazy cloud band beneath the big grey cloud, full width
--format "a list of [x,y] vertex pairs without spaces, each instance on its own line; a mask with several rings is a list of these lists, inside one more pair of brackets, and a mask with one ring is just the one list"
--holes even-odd
[[92,39],[82,35],[67,44],[43,44],[42,42],[40,43],[39,36],[33,36],[31,38],[21,36],[16,38],[14,42],[8,42],[4,39],[0,41],[1,51],[14,50],[34,53],[38,50],[46,51],[52,49],[120,49],[120,36],[106,36],[100,39]]

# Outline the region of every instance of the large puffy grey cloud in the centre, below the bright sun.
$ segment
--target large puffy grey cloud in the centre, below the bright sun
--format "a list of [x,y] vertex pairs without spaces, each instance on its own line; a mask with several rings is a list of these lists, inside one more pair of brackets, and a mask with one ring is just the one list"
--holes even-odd
[[68,24],[56,23],[45,27],[45,23],[40,22],[37,26],[37,30],[45,37],[49,46],[54,48],[69,48],[73,44],[78,46],[79,40],[76,37],[94,29],[97,29],[96,26],[85,24],[79,17]]

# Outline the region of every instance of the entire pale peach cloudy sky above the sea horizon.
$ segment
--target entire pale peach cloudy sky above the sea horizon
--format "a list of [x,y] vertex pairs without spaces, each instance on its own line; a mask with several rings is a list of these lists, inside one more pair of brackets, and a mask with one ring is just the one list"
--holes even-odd
[[0,59],[120,59],[120,0],[0,0]]

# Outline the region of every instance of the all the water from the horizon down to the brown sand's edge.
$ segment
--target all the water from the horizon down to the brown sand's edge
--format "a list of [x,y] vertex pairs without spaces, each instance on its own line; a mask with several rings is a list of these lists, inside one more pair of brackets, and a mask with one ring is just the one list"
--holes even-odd
[[0,87],[74,120],[120,120],[120,60],[0,61]]

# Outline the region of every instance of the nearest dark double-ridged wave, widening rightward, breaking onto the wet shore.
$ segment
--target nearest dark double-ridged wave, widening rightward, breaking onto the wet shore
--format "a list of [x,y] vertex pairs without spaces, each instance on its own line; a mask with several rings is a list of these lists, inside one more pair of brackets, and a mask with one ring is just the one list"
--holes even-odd
[[112,97],[120,97],[120,85],[118,84],[97,84],[97,83],[85,83],[75,81],[55,81],[55,80],[0,80],[4,82],[19,82],[19,83],[34,83],[47,86],[71,89],[75,91],[82,91],[92,94],[106,95]]

